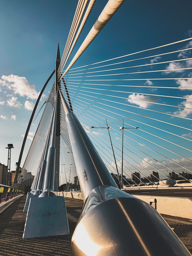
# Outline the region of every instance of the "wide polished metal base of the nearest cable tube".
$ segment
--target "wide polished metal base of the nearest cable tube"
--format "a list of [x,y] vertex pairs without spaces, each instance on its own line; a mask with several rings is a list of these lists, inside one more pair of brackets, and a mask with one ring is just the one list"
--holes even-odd
[[72,256],[190,256],[150,204],[115,187],[94,188],[71,239]]

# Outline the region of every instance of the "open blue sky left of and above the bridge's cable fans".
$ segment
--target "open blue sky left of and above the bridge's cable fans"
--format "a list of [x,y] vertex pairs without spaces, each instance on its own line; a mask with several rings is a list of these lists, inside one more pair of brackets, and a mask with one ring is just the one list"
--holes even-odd
[[[63,52],[77,3],[0,1],[0,162],[7,164],[5,147],[12,143],[11,170],[38,92],[54,69],[58,42]],[[76,50],[106,3],[96,1]],[[126,0],[74,67],[188,38],[191,9],[191,0]]]

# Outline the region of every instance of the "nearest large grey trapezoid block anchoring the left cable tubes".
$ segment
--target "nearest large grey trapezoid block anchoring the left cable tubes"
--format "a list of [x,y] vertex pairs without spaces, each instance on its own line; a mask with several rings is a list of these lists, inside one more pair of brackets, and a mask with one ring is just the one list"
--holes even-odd
[[69,234],[63,197],[31,197],[23,239]]

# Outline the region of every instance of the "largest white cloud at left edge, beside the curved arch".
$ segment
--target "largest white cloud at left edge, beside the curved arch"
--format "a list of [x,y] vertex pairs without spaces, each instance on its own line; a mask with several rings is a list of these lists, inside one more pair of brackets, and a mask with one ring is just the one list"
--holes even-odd
[[27,96],[32,100],[37,99],[39,93],[36,91],[34,85],[30,85],[27,79],[18,75],[3,75],[0,79],[0,85],[6,86],[9,90],[12,90],[14,94],[20,96]]

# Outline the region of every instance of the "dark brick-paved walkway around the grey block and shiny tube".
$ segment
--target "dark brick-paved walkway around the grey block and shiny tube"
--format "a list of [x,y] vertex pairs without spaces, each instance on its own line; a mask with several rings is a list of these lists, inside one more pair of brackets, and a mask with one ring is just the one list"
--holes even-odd
[[[70,241],[79,218],[83,202],[65,199],[70,235],[22,239],[26,212],[25,196],[18,198],[0,214],[0,256],[64,256],[71,255]],[[192,220],[163,215],[181,241],[192,252]]]

